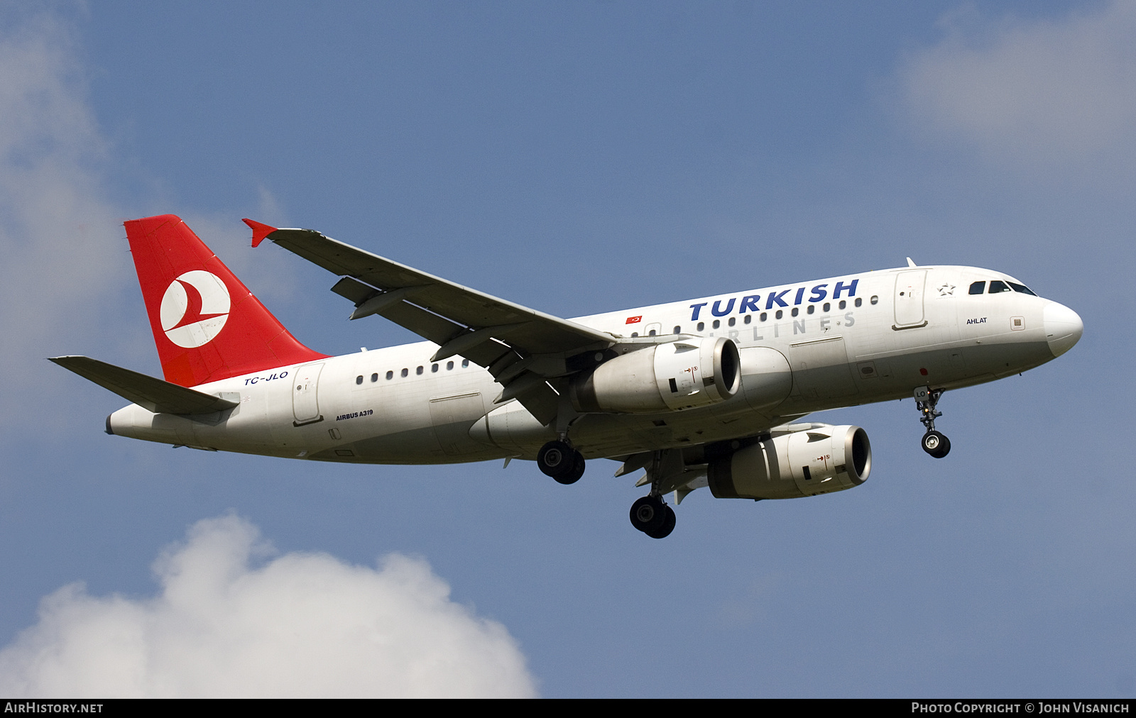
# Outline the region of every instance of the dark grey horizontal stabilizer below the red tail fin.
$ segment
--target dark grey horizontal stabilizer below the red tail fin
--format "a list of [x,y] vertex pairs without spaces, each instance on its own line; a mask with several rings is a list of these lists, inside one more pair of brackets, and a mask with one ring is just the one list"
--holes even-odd
[[211,414],[237,404],[228,399],[170,384],[90,357],[52,357],[49,361],[55,361],[154,414]]

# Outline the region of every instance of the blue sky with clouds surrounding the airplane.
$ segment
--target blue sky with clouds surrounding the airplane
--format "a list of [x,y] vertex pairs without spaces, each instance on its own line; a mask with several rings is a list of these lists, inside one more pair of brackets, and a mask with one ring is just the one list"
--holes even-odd
[[[0,27],[0,692],[45,690],[27,657],[75,616],[175,615],[175,588],[218,566],[333,577],[325,608],[282,620],[346,616],[311,641],[374,674],[314,693],[1136,690],[1133,3],[48,3],[5,6]],[[871,436],[863,486],[698,492],[651,541],[627,524],[641,490],[605,461],[566,487],[524,462],[340,467],[106,436],[122,402],[43,358],[160,374],[120,225],[165,212],[327,353],[415,337],[349,324],[328,275],[254,252],[241,217],[559,316],[911,256],[1006,272],[1086,329],[1050,365],[946,394],[942,461],[911,401],[829,412]],[[257,529],[274,549],[245,566]],[[390,656],[350,638],[352,610],[389,599],[421,628],[406,650],[468,660],[392,683]],[[259,682],[299,659],[249,635],[265,658],[232,690],[278,693]],[[67,645],[75,675],[106,660]],[[229,690],[202,671],[142,675]]]

